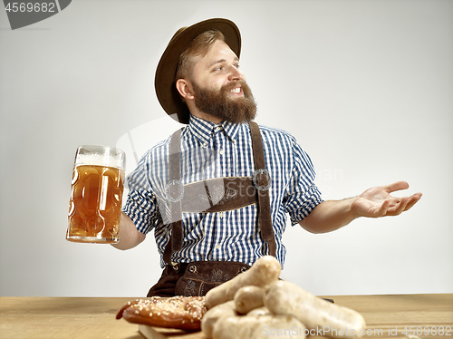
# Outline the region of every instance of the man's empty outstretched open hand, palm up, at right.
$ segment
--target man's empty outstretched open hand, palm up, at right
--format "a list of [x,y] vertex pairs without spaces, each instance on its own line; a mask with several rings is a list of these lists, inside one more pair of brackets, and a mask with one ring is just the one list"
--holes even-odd
[[367,189],[352,203],[352,210],[359,217],[398,216],[414,206],[421,198],[421,193],[415,193],[410,197],[403,198],[390,196],[391,192],[408,188],[409,184],[407,182],[398,181],[387,186]]

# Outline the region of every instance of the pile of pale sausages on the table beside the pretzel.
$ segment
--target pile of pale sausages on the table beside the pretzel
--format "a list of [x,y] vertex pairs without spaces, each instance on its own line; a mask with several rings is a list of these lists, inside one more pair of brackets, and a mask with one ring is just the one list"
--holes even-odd
[[331,338],[361,337],[366,324],[359,313],[278,280],[280,272],[275,257],[261,257],[245,273],[207,292],[203,334],[212,339],[304,339],[321,330]]

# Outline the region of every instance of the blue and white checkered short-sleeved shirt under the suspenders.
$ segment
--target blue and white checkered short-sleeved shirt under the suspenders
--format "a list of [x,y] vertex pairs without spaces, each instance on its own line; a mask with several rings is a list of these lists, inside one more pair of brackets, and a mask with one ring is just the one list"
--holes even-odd
[[[269,190],[275,257],[284,266],[286,249],[282,236],[286,216],[297,224],[323,201],[314,185],[312,161],[294,137],[260,126],[265,150],[265,168],[271,177]],[[128,176],[130,193],[123,207],[141,233],[154,228],[160,256],[169,242],[169,208],[166,184],[169,182],[170,138],[159,142],[140,160]],[[181,183],[204,179],[252,177],[255,171],[250,128],[247,123],[223,121],[216,125],[193,116],[181,133]],[[183,213],[183,248],[174,252],[173,262],[198,260],[237,261],[252,265],[268,253],[260,237],[256,204],[225,212]],[[160,265],[166,263],[162,257]]]

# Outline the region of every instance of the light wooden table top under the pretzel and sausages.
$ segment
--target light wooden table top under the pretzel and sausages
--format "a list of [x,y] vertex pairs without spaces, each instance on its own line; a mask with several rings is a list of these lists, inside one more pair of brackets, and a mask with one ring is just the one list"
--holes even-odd
[[[364,316],[369,333],[363,338],[453,339],[453,294],[324,297]],[[143,339],[136,324],[115,319],[120,307],[130,300],[134,298],[0,297],[0,338]],[[422,333],[425,326],[429,326],[429,335]],[[449,326],[451,330],[444,330],[440,335],[440,326]],[[408,334],[410,329],[414,331],[413,336],[402,333],[405,327]],[[435,335],[433,328],[437,330]],[[172,335],[171,338],[201,339],[203,335]]]

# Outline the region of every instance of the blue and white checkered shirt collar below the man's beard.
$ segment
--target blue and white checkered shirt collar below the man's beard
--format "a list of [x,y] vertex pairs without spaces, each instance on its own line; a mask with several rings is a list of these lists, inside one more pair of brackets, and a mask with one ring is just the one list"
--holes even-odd
[[215,124],[214,122],[197,118],[192,114],[190,114],[190,120],[188,122],[188,128],[202,144],[209,142],[216,131],[224,131],[226,136],[234,142],[240,126],[241,125],[239,124],[228,121],[222,121],[219,124]]

